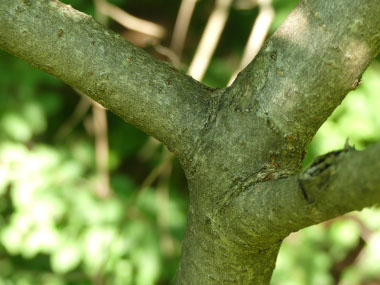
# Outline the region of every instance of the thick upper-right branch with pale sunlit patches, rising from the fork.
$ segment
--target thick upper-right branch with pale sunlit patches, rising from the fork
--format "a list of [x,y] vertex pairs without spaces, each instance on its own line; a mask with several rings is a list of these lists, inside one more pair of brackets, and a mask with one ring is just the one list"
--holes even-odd
[[378,0],[302,0],[239,75],[231,93],[256,101],[302,152],[380,52]]

